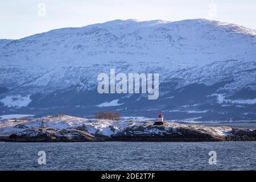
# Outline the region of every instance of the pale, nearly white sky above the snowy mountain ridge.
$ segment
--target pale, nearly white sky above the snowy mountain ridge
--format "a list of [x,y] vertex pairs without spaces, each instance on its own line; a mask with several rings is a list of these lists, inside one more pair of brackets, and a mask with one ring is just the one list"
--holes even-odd
[[[45,11],[44,11],[45,10]],[[256,30],[255,0],[8,0],[0,2],[0,39],[114,19],[205,18]]]

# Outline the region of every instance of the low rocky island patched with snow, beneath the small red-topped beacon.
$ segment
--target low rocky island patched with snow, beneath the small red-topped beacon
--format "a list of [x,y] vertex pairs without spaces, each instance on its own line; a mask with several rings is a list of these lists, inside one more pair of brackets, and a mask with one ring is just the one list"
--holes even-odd
[[221,142],[256,140],[256,130],[154,121],[48,115],[0,121],[2,142]]

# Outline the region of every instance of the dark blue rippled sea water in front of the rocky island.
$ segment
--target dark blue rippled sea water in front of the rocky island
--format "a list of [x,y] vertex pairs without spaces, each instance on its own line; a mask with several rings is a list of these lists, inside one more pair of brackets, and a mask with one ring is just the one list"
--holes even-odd
[[0,142],[0,170],[256,170],[256,142]]

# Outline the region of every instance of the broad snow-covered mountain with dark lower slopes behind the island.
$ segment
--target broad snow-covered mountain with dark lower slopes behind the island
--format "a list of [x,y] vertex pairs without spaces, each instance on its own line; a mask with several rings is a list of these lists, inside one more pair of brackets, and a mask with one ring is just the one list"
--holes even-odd
[[[0,40],[2,113],[118,110],[256,120],[256,31],[206,19],[113,20]],[[98,94],[98,73],[159,73],[160,97]],[[143,113],[143,114],[142,114]]]

